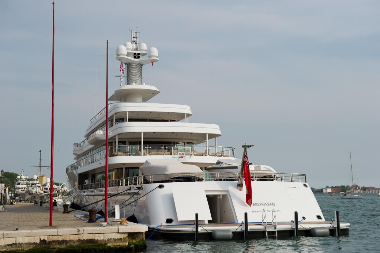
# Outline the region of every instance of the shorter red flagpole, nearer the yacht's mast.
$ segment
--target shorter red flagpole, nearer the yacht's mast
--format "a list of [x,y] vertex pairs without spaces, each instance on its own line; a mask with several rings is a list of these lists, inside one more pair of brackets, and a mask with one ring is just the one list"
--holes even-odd
[[104,222],[107,223],[108,213],[108,41],[107,41],[107,64],[106,64],[106,183],[104,195]]

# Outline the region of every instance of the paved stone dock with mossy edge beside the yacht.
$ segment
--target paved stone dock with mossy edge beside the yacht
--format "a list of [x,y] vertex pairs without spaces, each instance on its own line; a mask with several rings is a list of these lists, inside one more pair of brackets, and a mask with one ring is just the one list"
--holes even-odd
[[[147,226],[127,222],[88,223],[86,212],[53,211],[49,226],[49,210],[30,203],[6,205],[0,212],[0,251],[20,252],[107,252],[133,251],[146,248]],[[74,215],[77,215],[75,217]],[[103,220],[103,219],[101,219]]]

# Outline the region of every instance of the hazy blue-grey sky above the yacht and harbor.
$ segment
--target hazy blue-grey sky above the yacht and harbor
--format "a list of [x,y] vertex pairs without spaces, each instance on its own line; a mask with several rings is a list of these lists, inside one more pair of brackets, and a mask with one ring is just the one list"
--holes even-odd
[[[218,145],[254,144],[255,164],[307,175],[311,187],[380,187],[380,2],[55,1],[54,181],[65,182],[116,83],[116,47],[138,26],[156,47],[150,102],[186,104]],[[50,164],[52,3],[0,2],[0,167]],[[144,68],[144,81],[151,69]],[[50,171],[46,171],[50,174]]]

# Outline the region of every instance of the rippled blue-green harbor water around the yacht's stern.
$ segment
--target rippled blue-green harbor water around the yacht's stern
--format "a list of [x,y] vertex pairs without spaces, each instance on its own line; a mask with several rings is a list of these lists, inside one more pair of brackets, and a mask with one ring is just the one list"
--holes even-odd
[[[253,194],[254,197],[254,194]],[[380,197],[340,199],[339,194],[315,194],[326,220],[339,210],[340,221],[351,224],[350,235],[342,237],[290,237],[232,241],[147,240],[141,252],[380,252]]]

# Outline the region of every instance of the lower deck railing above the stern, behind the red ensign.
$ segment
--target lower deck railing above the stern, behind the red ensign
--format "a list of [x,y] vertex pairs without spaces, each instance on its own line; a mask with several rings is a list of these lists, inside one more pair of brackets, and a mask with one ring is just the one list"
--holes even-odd
[[[213,182],[213,181],[237,181],[238,172],[199,172],[199,173],[167,173],[140,175],[126,177],[122,179],[108,180],[108,187],[132,186],[149,183],[161,182]],[[251,171],[252,181],[268,182],[301,182],[306,183],[306,174],[299,173],[279,173],[279,172],[255,172]],[[103,182],[89,183],[88,185],[79,185],[79,190],[89,190],[104,188]]]

